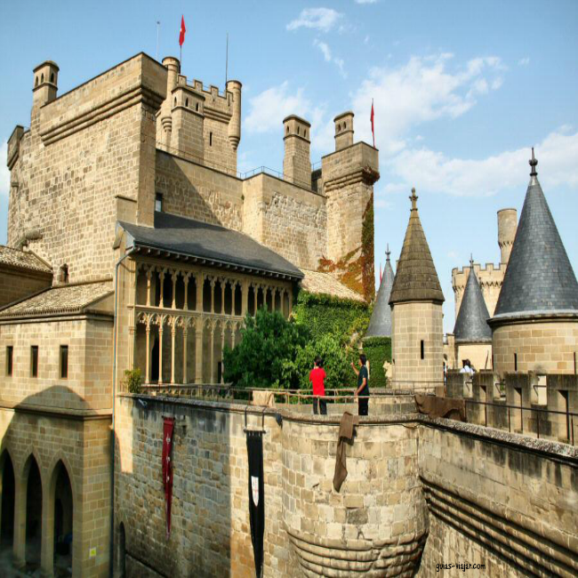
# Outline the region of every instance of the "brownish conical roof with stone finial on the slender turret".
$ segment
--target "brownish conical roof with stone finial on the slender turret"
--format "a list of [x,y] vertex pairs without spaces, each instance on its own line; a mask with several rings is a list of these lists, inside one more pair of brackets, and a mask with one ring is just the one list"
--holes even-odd
[[400,301],[444,302],[436,266],[429,253],[428,241],[421,229],[417,212],[417,198],[412,189],[412,212],[405,231],[404,246],[397,261],[396,278],[393,281],[389,304]]

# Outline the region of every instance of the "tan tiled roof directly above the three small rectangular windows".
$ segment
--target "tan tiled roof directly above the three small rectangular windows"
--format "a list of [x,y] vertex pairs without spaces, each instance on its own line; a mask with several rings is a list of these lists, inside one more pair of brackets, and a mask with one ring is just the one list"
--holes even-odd
[[100,301],[112,293],[114,292],[109,281],[51,287],[0,310],[0,319],[80,313],[90,309],[90,305],[95,301]]

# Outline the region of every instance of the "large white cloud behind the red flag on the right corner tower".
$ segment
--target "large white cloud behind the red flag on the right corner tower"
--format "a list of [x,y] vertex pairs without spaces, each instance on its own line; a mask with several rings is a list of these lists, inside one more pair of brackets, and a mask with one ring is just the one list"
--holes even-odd
[[[451,53],[413,56],[399,68],[373,68],[353,97],[357,118],[367,118],[374,99],[375,134],[385,155],[405,149],[407,132],[440,117],[462,116],[476,104],[476,97],[497,90],[504,70],[498,57],[470,60],[451,67]],[[371,139],[369,122],[357,122],[357,134]]]

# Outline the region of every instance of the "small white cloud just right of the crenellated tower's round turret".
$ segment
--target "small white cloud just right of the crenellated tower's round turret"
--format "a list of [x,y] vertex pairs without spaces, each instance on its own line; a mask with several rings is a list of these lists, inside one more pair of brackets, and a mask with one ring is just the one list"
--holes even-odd
[[249,99],[244,128],[248,132],[279,131],[285,116],[305,116],[309,109],[310,102],[303,96],[303,89],[289,92],[289,83],[285,80]]

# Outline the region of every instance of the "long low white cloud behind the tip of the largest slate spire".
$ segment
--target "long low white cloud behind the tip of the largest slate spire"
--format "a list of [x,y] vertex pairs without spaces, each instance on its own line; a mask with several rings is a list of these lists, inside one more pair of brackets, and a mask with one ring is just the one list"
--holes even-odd
[[[566,127],[562,127],[565,129]],[[578,132],[551,132],[536,145],[538,173],[544,189],[578,189]],[[523,188],[529,179],[530,146],[479,160],[450,158],[429,149],[406,149],[386,161],[390,190],[413,185],[456,197],[489,197],[502,189]],[[394,181],[397,177],[397,182]]]

